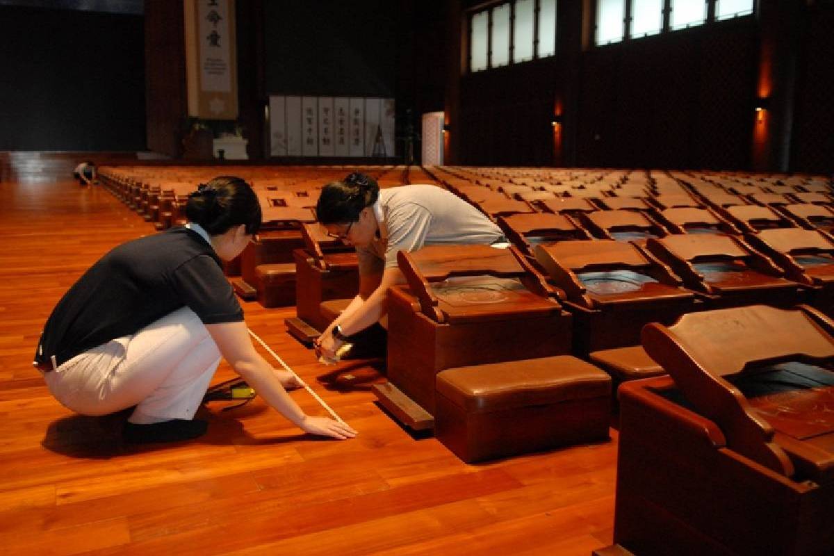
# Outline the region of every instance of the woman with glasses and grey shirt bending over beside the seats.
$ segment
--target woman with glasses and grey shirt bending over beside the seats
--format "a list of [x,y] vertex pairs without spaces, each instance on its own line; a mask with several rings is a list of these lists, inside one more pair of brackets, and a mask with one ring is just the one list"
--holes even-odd
[[399,251],[425,245],[505,245],[501,229],[477,208],[443,188],[404,185],[379,190],[373,178],[351,173],[328,183],[316,217],[331,237],[354,245],[359,258],[359,294],[315,342],[324,361],[333,361],[348,338],[379,322],[385,325],[388,288],[404,283]]

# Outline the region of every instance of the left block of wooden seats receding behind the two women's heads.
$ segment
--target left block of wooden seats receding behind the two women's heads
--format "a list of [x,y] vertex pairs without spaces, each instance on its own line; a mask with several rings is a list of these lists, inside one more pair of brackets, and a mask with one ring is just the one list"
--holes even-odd
[[225,266],[234,289],[243,298],[258,298],[265,307],[295,301],[293,252],[304,246],[301,227],[315,222],[314,207],[324,183],[351,172],[367,173],[380,187],[424,180],[422,168],[407,167],[118,167],[101,168],[102,183],[157,229],[185,222],[188,193],[218,174],[246,179],[257,193],[261,233],[244,253]]

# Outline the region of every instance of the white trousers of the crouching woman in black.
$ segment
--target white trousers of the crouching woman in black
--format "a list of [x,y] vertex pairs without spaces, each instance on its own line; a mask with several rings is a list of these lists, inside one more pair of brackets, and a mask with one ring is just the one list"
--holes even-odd
[[217,344],[189,308],[92,348],[43,373],[49,392],[83,415],[136,406],[128,419],[191,419],[220,363]]

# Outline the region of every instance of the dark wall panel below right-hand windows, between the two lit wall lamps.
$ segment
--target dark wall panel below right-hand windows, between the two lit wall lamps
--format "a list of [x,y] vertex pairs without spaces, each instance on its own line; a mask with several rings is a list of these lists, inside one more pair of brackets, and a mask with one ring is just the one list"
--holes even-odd
[[748,18],[590,50],[577,164],[746,168],[755,41]]

